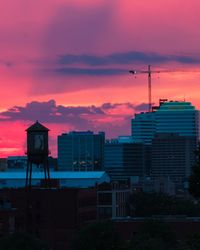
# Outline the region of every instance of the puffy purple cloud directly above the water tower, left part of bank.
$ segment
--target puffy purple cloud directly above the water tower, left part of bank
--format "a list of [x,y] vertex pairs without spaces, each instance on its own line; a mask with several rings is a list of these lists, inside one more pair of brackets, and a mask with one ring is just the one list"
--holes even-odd
[[25,107],[15,106],[0,113],[1,121],[29,120],[47,123],[69,123],[78,127],[85,126],[88,121],[81,116],[104,114],[103,110],[95,106],[65,107],[56,105],[54,100],[48,102],[31,102]]

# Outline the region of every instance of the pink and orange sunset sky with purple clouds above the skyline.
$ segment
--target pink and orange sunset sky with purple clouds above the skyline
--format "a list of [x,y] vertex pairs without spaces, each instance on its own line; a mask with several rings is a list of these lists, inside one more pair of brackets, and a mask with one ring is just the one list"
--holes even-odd
[[149,64],[154,104],[200,109],[199,9],[199,0],[0,0],[0,157],[25,153],[36,120],[53,156],[71,130],[129,135],[148,107],[139,72]]

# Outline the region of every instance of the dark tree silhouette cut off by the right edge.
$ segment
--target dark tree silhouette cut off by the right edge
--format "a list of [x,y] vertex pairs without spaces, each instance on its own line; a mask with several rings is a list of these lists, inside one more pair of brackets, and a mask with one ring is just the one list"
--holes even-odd
[[195,152],[196,162],[189,178],[189,192],[197,199],[200,198],[200,144]]

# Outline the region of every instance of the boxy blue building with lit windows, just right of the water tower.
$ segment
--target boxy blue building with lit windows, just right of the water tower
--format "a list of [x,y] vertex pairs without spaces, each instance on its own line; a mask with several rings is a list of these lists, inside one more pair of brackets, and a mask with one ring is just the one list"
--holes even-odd
[[105,134],[91,131],[58,136],[58,170],[100,171],[104,166]]

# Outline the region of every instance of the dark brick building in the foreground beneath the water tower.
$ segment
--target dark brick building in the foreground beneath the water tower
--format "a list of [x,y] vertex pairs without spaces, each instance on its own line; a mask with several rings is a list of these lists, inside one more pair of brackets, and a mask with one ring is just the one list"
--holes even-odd
[[[1,189],[0,199],[9,201],[15,208],[14,216],[12,210],[7,213],[8,218],[12,215],[14,224],[4,223],[4,235],[12,230],[29,232],[46,241],[53,250],[70,249],[77,230],[97,218],[94,189],[33,188],[28,192],[25,189]],[[0,211],[0,218],[2,213]]]

